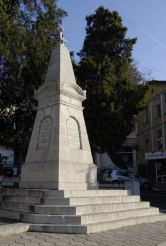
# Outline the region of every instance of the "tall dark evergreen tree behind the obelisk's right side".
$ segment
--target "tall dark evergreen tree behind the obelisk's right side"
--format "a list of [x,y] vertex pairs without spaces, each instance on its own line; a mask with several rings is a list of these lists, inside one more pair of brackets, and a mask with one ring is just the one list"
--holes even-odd
[[87,16],[86,37],[75,64],[79,85],[87,90],[85,120],[93,150],[112,159],[133,128],[133,116],[142,109],[146,86],[132,60],[136,39],[117,12],[99,7]]

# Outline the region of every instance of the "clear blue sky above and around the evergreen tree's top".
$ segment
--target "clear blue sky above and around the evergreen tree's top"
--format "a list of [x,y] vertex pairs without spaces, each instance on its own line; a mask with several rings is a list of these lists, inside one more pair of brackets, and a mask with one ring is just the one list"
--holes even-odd
[[85,17],[99,6],[116,10],[128,28],[127,37],[137,37],[133,58],[147,79],[166,80],[166,0],[59,0],[68,12],[63,20],[70,51],[78,52],[85,38]]

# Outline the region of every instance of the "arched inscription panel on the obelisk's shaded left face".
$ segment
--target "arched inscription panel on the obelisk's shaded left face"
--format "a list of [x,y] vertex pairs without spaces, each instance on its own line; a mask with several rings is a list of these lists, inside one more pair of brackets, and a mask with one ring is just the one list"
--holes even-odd
[[46,117],[42,120],[39,130],[38,148],[46,148],[50,144],[52,131],[52,120],[50,117]]

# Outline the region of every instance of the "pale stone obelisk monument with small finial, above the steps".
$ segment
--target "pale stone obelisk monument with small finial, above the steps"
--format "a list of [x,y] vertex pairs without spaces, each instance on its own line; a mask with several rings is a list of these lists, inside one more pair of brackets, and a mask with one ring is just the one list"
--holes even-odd
[[66,41],[60,32],[44,84],[36,91],[38,110],[22,166],[21,188],[97,187],[82,102]]

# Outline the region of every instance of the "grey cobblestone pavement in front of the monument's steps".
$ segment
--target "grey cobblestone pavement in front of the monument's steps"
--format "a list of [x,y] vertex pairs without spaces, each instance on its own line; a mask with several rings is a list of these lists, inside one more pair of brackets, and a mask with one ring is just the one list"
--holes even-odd
[[0,237],[0,246],[166,246],[166,222],[90,235],[26,232]]

